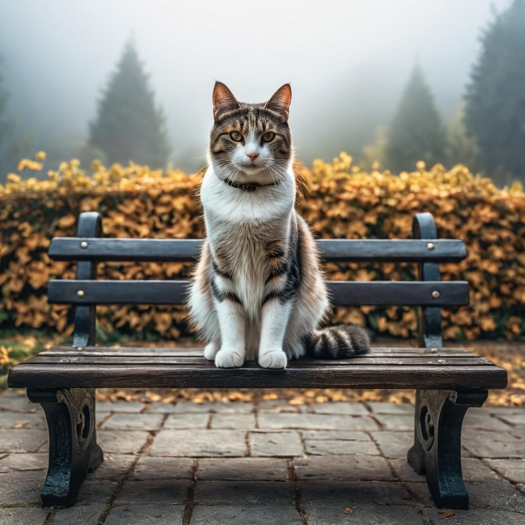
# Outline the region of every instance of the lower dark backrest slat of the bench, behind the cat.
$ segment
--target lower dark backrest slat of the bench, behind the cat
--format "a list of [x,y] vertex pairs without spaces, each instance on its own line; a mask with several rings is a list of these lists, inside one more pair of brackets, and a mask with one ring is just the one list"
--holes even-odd
[[[56,304],[181,304],[189,281],[50,280],[48,301]],[[336,306],[461,306],[466,281],[327,281]],[[81,293],[81,296],[78,293]],[[439,296],[434,298],[432,293]]]

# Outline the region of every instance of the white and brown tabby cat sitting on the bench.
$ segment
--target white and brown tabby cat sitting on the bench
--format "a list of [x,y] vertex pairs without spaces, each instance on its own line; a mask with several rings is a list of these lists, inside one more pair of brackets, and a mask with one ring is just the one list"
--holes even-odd
[[217,367],[257,360],[283,369],[308,355],[369,350],[353,325],[319,329],[330,301],[316,242],[295,211],[289,84],[261,104],[213,89],[214,124],[201,186],[206,238],[188,297],[190,320]]

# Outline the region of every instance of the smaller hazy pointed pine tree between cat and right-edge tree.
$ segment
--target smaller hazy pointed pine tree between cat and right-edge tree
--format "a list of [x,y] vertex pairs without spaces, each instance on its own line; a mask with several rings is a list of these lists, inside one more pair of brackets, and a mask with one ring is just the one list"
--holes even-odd
[[393,172],[444,162],[445,130],[418,66],[412,70],[394,115],[386,145],[386,165]]

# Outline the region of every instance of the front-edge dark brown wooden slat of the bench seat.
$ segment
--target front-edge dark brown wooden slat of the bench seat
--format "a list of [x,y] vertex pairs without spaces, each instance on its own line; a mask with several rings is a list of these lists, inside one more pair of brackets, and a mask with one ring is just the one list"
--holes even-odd
[[507,373],[496,365],[319,365],[285,370],[248,363],[237,369],[206,365],[81,365],[21,363],[9,371],[9,386],[38,388],[416,388],[465,390],[505,388]]

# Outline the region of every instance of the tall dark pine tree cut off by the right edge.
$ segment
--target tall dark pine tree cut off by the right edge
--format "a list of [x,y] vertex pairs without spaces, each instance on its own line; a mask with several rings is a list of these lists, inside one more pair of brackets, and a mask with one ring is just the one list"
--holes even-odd
[[481,36],[467,86],[466,124],[497,182],[525,180],[525,1],[514,0]]

